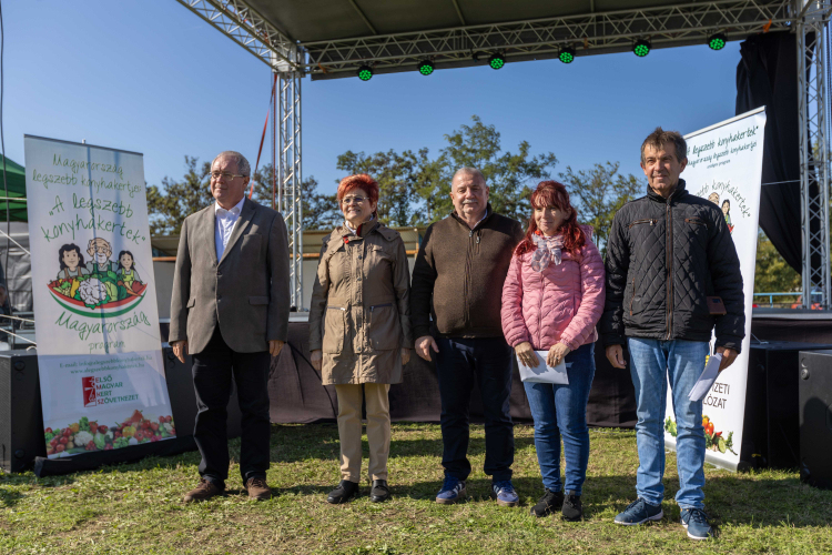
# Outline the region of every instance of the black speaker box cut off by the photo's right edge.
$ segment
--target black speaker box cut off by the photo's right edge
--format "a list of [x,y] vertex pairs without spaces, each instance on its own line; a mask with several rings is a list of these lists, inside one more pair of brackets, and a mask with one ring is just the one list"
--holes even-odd
[[832,490],[832,351],[800,353],[800,478]]

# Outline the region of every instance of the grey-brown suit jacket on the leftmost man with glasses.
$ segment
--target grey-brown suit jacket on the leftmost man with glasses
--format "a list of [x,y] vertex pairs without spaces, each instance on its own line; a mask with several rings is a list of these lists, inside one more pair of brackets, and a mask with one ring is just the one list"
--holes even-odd
[[288,333],[288,241],[283,216],[248,199],[222,260],[214,244],[214,204],[185,218],[171,297],[169,342],[200,353],[219,325],[240,353],[268,350]]

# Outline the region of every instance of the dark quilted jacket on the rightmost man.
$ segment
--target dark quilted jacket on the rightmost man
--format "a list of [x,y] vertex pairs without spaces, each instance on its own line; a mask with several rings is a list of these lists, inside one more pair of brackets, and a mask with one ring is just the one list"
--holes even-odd
[[[719,206],[688,193],[679,180],[669,199],[647,196],[616,213],[607,244],[605,345],[625,336],[710,341],[740,350],[745,335],[742,275],[737,249]],[[708,296],[728,314],[713,316]]]

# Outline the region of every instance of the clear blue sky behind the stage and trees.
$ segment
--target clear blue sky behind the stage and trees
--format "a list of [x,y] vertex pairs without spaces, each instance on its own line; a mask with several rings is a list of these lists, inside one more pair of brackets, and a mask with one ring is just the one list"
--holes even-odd
[[[252,164],[271,74],[254,56],[174,0],[4,0],[6,152],[24,163],[23,134],[144,154],[149,184],[180,178],[184,157],[240,150]],[[620,161],[640,173],[656,127],[682,133],[734,115],[739,42],[632,53],[303,81],[303,174],[322,191],[346,150],[419,149],[477,114],[575,170]],[[266,144],[265,162],[271,161]],[[264,161],[261,161],[263,164]]]

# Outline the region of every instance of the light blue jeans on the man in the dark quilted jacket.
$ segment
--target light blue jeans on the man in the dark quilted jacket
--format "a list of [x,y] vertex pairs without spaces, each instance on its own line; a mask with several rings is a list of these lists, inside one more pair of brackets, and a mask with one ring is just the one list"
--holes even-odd
[[708,343],[700,341],[659,341],[628,337],[630,375],[636,386],[636,441],[639,470],[638,496],[660,505],[664,496],[664,407],[668,380],[676,413],[676,466],[681,508],[704,508],[704,428],[702,402],[688,400],[690,390],[704,370]]

